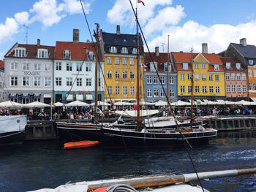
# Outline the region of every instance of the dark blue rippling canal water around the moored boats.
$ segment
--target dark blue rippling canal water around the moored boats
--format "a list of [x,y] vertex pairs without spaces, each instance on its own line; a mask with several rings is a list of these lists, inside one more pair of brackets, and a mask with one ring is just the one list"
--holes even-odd
[[[208,145],[189,150],[198,172],[256,167],[256,131],[218,133]],[[0,191],[56,188],[71,181],[128,175],[194,172],[184,148],[64,150],[56,141],[0,148]],[[210,191],[256,191],[256,174],[203,181]]]

